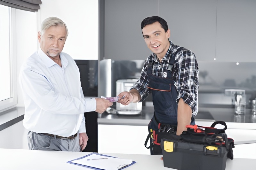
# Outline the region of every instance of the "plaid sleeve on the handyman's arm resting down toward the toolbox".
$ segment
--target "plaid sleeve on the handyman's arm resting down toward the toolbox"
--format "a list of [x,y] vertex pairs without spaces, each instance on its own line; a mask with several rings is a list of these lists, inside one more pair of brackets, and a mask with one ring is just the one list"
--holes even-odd
[[173,80],[177,89],[178,97],[183,98],[192,109],[192,115],[198,112],[198,64],[195,54],[187,49],[180,51],[173,66]]

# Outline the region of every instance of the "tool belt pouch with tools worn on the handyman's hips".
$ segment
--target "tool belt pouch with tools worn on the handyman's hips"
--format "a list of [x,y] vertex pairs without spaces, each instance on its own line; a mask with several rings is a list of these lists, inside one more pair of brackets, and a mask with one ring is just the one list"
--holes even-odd
[[[153,145],[161,145],[161,139],[162,138],[168,138],[169,136],[177,136],[177,125],[168,125],[168,124],[158,124],[158,130],[152,130],[150,129],[149,134],[147,136],[147,139],[145,141],[145,147],[147,149],[150,149],[153,147]],[[150,143],[150,146],[147,147],[147,143],[149,138],[151,137],[152,143]],[[180,136],[177,136],[180,138]]]

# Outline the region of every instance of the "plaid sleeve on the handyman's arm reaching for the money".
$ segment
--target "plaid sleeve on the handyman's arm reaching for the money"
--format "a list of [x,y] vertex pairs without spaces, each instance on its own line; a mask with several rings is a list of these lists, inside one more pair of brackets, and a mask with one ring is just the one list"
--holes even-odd
[[139,102],[145,100],[148,97],[148,94],[151,93],[151,89],[148,89],[148,62],[149,57],[144,62],[144,66],[140,74],[140,79],[136,81],[132,87],[132,89],[136,89],[140,93],[141,100]]

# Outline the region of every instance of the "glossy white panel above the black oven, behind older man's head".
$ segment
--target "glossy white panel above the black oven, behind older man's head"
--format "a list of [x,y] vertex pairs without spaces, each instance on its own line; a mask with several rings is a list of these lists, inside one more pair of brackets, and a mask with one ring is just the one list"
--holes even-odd
[[98,59],[98,0],[42,0],[38,22],[62,19],[68,27],[63,52],[74,59]]

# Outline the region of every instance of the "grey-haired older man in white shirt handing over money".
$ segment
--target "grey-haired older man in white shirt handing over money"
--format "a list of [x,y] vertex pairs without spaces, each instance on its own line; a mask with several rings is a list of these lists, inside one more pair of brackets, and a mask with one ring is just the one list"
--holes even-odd
[[43,21],[38,32],[40,48],[20,70],[25,104],[23,125],[31,150],[81,151],[88,136],[84,112],[104,112],[113,103],[102,98],[84,99],[75,61],[61,52],[68,28],[59,18]]

